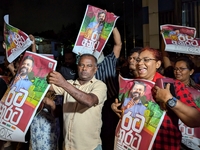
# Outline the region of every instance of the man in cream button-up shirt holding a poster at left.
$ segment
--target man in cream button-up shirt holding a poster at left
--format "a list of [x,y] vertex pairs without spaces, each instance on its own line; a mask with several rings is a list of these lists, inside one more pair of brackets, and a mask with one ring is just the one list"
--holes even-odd
[[[101,150],[101,111],[107,99],[107,87],[95,78],[97,59],[82,54],[78,60],[78,78],[65,80],[58,72],[48,76],[50,90],[63,95],[63,135],[65,150]],[[54,111],[58,109],[55,104]]]

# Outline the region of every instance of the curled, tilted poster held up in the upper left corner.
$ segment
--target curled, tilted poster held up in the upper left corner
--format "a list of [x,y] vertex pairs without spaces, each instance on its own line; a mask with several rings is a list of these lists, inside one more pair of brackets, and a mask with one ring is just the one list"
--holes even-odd
[[9,24],[9,15],[4,16],[4,42],[6,44],[6,57],[9,63],[32,44],[26,33]]

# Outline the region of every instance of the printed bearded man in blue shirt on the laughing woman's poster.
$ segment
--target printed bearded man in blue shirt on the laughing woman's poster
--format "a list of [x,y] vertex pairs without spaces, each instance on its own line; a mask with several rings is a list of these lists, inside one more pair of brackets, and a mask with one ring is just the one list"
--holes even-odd
[[144,96],[146,85],[143,82],[134,81],[133,88],[129,92],[129,97],[124,99],[122,110],[124,114],[131,111],[131,116],[136,117],[136,114],[144,115],[147,109],[141,101],[141,97]]

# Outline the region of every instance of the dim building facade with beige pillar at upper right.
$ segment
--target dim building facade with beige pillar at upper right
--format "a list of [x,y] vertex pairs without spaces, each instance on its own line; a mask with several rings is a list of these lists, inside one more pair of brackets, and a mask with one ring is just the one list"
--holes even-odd
[[143,46],[160,48],[160,25],[195,27],[200,36],[200,0],[142,0]]

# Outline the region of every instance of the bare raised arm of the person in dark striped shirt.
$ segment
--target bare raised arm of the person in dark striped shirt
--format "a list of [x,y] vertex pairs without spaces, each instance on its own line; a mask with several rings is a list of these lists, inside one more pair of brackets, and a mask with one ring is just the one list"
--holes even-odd
[[122,48],[122,41],[121,41],[121,36],[120,36],[120,33],[119,33],[117,27],[115,27],[113,29],[113,38],[114,38],[113,52],[115,54],[115,57],[119,58],[121,48]]

